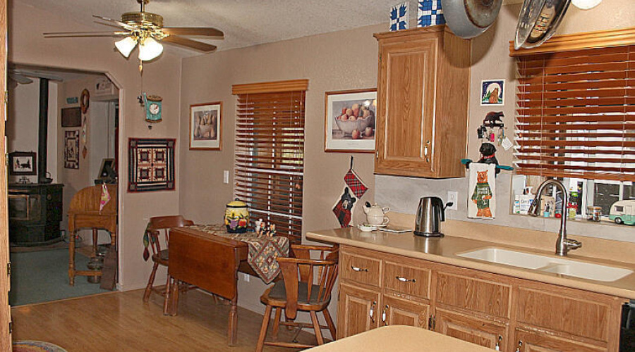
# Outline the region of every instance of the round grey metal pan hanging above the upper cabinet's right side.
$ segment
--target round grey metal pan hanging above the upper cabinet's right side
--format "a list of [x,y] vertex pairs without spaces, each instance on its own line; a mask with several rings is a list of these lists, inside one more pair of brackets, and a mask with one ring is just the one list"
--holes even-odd
[[469,39],[482,34],[496,20],[502,0],[441,0],[447,26]]

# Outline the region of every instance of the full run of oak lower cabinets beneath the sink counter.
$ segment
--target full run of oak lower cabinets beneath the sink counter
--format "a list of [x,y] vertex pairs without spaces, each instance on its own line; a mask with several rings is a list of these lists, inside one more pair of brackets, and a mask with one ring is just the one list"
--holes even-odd
[[353,246],[339,255],[338,339],[411,325],[506,352],[617,352],[623,298]]

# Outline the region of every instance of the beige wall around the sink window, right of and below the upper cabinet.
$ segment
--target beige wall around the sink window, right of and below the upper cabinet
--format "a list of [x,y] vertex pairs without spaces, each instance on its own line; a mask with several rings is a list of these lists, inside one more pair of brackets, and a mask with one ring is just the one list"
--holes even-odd
[[[582,11],[570,6],[557,34],[610,30],[613,28],[635,26],[635,6],[633,0],[603,1],[591,11]],[[480,141],[476,137],[476,128],[481,125],[489,111],[503,111],[506,135],[513,137],[514,94],[516,90],[514,60],[509,57],[509,40],[514,38],[519,5],[503,6],[500,15],[485,34],[472,42],[471,96],[468,126],[468,158],[478,160]],[[504,78],[507,82],[505,105],[480,106],[479,94],[481,80]],[[512,150],[504,151],[497,146],[496,157],[503,165],[512,165]],[[459,161],[456,161],[457,163]],[[495,220],[469,220],[520,227],[531,230],[557,232],[560,220],[532,218],[510,214],[511,172],[503,171],[496,180],[497,214]],[[388,205],[400,213],[414,214],[421,196],[440,196],[447,199],[447,191],[459,191],[459,209],[448,210],[447,216],[454,220],[468,220],[467,195],[468,179],[426,180],[410,177],[375,177],[375,195],[378,203]],[[618,241],[635,242],[632,227],[618,225],[596,225],[586,221],[568,222],[568,232],[588,237],[599,237]],[[554,234],[555,243],[555,234]]]

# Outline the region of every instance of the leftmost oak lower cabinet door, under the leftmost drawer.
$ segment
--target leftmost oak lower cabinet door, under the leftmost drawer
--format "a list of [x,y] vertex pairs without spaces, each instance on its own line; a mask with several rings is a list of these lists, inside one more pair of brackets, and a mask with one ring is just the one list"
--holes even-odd
[[337,338],[374,329],[380,322],[380,294],[340,284],[337,310]]

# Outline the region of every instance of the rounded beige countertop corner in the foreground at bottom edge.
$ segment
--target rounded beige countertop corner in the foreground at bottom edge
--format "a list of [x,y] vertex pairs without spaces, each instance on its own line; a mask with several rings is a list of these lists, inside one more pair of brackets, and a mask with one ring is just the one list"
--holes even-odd
[[322,346],[310,348],[311,352],[486,352],[490,348],[448,337],[421,327],[390,325],[368,330]]

